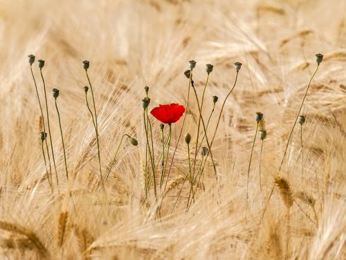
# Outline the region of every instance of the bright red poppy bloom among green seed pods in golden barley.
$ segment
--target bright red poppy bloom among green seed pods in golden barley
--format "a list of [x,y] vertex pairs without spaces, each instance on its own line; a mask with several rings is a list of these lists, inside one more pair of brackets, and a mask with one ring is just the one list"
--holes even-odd
[[181,118],[184,112],[185,107],[179,104],[159,105],[150,111],[162,123],[175,123]]

